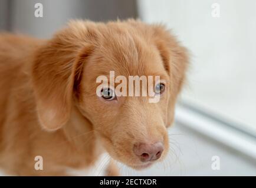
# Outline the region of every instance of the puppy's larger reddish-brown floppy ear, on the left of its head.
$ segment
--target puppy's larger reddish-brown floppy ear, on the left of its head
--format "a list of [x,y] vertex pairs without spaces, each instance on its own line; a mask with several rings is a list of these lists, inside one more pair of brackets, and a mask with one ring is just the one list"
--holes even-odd
[[69,120],[83,63],[93,51],[93,31],[73,25],[38,49],[32,65],[38,118],[47,130],[59,129]]

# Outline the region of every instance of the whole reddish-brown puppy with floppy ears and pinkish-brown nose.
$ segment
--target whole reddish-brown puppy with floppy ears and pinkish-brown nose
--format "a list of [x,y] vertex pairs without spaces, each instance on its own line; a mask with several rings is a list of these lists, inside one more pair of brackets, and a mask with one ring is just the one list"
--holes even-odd
[[[133,169],[164,159],[187,66],[186,49],[164,26],[133,19],[71,21],[50,40],[2,33],[0,168],[11,175],[65,176],[91,174],[104,152]],[[111,88],[97,95],[96,79],[109,78],[110,71],[160,76],[153,83],[159,102],[114,96]],[[102,174],[118,174],[113,162],[103,166]]]

